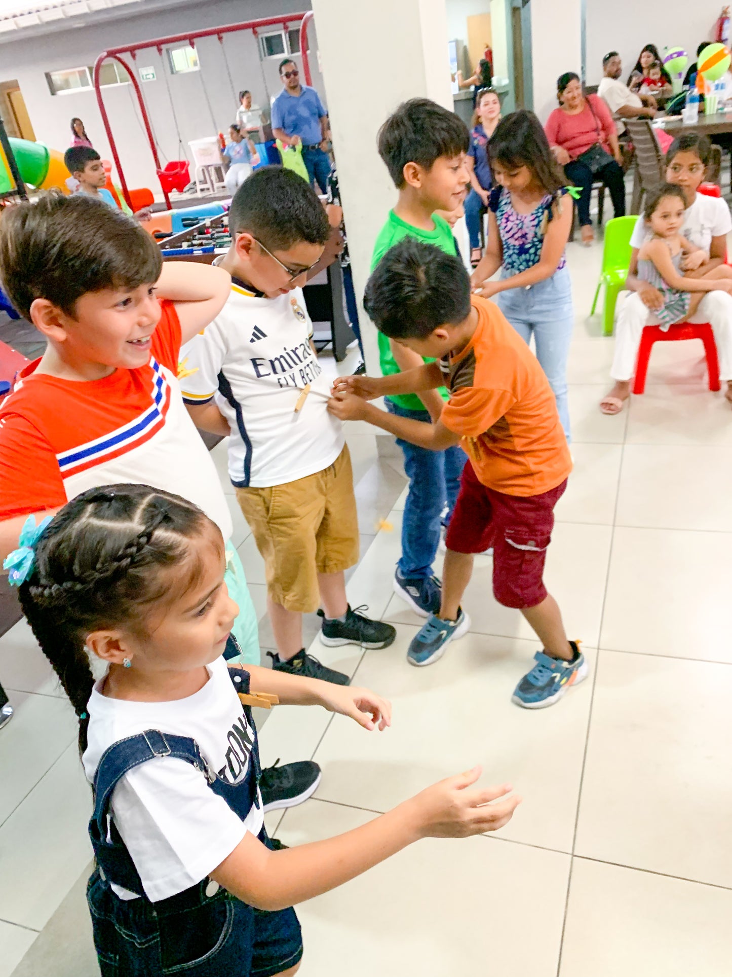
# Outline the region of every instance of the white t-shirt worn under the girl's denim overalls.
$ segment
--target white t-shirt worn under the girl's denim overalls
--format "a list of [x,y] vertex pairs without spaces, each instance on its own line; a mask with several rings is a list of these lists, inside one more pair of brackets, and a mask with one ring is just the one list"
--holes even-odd
[[[190,737],[212,771],[230,784],[243,780],[254,731],[224,658],[208,670],[202,689],[172,702],[110,699],[102,696],[98,682],[89,700],[89,745],[82,757],[90,783],[107,747],[148,729]],[[264,821],[261,800],[242,822],[201,771],[170,757],[155,757],[125,774],[112,793],[111,813],[152,902],[200,882],[247,831],[259,834]],[[119,886],[112,888],[123,899],[136,898]]]

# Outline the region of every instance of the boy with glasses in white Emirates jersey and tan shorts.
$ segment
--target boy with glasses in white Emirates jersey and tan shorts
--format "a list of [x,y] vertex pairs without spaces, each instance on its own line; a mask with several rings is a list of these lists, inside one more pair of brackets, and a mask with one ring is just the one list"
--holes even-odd
[[353,477],[302,290],[330,228],[305,181],[270,166],[236,191],[229,229],[221,266],[231,293],[183,350],[183,400],[197,427],[231,436],[229,478],[264,557],[272,666],[346,685],[345,674],[305,654],[303,614],[322,605],[320,639],[330,647],[385,648],[395,630],[346,599],[344,572],[358,559]]

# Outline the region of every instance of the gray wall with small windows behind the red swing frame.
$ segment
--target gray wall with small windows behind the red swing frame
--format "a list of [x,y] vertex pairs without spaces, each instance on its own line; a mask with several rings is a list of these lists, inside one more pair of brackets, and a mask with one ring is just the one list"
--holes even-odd
[[[0,46],[0,82],[18,79],[39,142],[46,143],[52,149],[66,149],[71,138],[71,116],[78,115],[84,120],[95,149],[100,151],[103,158],[111,159],[94,90],[52,96],[45,78],[46,71],[94,64],[97,56],[106,48],[128,42],[183,33],[196,28],[273,17],[279,13],[295,13],[309,7],[308,0],[276,0],[276,3],[273,0],[205,0],[195,5],[182,5],[148,15],[141,15],[138,9],[134,17],[125,20],[55,30],[53,33],[25,40],[19,33],[12,43]],[[308,36],[313,84],[325,100],[315,52],[314,21],[310,24]],[[142,94],[160,146],[163,165],[163,156],[168,159],[190,159],[188,141],[213,135],[219,130],[225,133],[236,112],[237,101],[232,98],[218,39],[201,38],[196,41],[196,47],[201,70],[186,74],[170,74],[167,58],[163,56],[163,64],[154,48],[138,54],[137,67],[153,65],[156,72],[155,81],[142,83]],[[224,48],[236,91],[250,89],[255,103],[268,108],[258,45],[252,32],[224,35]],[[295,60],[300,63],[299,57]],[[263,63],[269,95],[276,94],[281,87],[277,76],[278,62],[279,59],[269,59]],[[183,141],[181,154],[165,86],[166,77]],[[216,126],[206,104],[202,78],[213,106]],[[132,86],[106,87],[102,89],[102,93],[128,186],[149,187],[153,192],[159,192],[160,185],[155,176]]]

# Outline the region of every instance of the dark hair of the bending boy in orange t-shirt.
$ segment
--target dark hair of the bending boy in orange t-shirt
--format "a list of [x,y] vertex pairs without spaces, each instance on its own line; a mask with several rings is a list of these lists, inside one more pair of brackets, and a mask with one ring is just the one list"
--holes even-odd
[[372,272],[363,307],[390,339],[425,339],[438,326],[468,317],[468,272],[456,255],[404,237]]

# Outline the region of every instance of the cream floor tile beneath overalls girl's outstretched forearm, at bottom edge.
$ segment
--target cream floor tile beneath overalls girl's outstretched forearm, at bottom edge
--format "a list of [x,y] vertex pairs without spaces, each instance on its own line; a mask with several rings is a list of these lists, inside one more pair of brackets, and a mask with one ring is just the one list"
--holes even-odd
[[[278,835],[303,844],[370,818],[311,802],[288,811]],[[419,841],[298,907],[305,933],[300,973],[554,977],[568,863],[566,855],[493,838]]]

